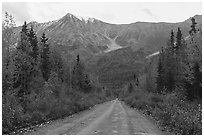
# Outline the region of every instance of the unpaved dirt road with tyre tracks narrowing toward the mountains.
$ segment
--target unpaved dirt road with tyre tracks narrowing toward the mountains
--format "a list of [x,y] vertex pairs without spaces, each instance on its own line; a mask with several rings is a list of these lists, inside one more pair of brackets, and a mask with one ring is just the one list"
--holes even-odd
[[138,111],[129,108],[116,99],[96,105],[90,110],[83,111],[65,119],[54,121],[28,134],[153,135],[164,133]]

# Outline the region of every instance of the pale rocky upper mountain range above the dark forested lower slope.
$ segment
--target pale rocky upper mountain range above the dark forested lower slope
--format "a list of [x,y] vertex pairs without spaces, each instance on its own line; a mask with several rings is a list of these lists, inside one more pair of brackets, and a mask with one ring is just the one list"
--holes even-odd
[[[194,18],[201,27],[202,16],[196,15]],[[151,54],[166,45],[171,29],[177,32],[180,27],[183,36],[187,36],[191,20],[189,18],[179,23],[135,22],[118,25],[94,18],[85,20],[68,13],[55,21],[30,22],[28,26],[30,25],[33,25],[38,37],[45,32],[51,46],[64,46],[71,52],[95,55],[131,47],[133,50],[142,48],[147,54]],[[14,41],[20,36],[20,30],[21,26],[14,29]]]

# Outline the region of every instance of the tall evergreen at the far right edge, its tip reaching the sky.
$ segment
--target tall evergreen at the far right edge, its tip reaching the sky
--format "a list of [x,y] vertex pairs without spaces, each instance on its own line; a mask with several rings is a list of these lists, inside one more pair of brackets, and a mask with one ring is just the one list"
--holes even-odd
[[191,19],[190,45],[188,48],[188,65],[185,72],[185,88],[189,100],[202,100],[202,42],[199,31],[196,30],[196,21]]

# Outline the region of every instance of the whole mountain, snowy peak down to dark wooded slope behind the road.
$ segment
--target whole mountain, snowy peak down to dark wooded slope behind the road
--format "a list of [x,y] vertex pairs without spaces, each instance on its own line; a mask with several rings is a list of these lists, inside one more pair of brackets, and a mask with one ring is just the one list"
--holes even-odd
[[[202,28],[202,16],[194,16],[198,28]],[[190,18],[178,23],[110,24],[94,18],[78,18],[72,14],[50,22],[33,25],[38,38],[44,32],[52,49],[57,50],[67,61],[77,54],[85,62],[93,79],[106,86],[119,87],[143,73],[146,57],[158,53],[180,27],[183,37],[189,35]],[[19,38],[21,26],[14,29],[13,42]]]

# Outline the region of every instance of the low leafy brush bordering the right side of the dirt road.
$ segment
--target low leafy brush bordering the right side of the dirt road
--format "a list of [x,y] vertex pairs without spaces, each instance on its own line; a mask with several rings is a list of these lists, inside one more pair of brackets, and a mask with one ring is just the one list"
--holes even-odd
[[175,93],[146,93],[139,89],[122,100],[152,117],[162,130],[171,134],[201,135],[202,106],[197,102],[182,100]]

